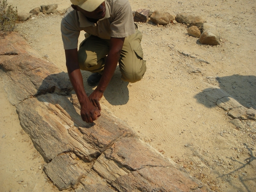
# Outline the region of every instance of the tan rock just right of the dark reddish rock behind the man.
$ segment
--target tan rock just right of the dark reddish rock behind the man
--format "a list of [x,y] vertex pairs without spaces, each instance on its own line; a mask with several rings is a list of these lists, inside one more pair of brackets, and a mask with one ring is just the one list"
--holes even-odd
[[168,12],[154,11],[150,16],[150,20],[159,25],[167,25],[171,20],[175,20],[175,17]]

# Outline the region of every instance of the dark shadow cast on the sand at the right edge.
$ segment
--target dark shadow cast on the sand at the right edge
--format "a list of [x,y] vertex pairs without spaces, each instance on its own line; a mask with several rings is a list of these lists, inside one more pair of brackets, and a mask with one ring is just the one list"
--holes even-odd
[[[215,83],[244,107],[256,109],[256,76],[233,75],[211,78],[208,81],[209,83]],[[207,100],[205,97],[204,93],[209,90],[211,89],[203,90],[195,95],[195,98],[199,103],[211,108],[216,103]]]

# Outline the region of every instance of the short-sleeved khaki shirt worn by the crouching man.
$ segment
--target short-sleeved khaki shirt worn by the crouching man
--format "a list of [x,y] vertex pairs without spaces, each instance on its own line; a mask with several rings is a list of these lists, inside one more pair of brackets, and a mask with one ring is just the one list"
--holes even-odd
[[128,0],[105,0],[106,15],[92,23],[81,12],[70,7],[61,20],[64,49],[76,49],[80,31],[102,39],[124,38],[135,33],[131,5]]

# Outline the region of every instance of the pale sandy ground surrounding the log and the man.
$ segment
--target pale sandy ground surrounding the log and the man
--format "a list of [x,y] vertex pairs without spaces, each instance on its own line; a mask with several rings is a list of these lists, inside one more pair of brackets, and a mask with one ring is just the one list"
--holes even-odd
[[[8,0],[18,12],[69,0]],[[247,108],[256,109],[255,0],[130,0],[133,11],[143,8],[173,15],[192,13],[206,18],[221,34],[218,46],[202,45],[187,34],[187,26],[138,23],[147,72],[134,84],[116,72],[101,100],[143,140],[163,150],[190,175],[223,192],[256,191],[256,122],[242,121],[244,131],[230,123],[227,112],[209,102],[203,91],[213,84]],[[17,24],[30,46],[66,72],[61,41],[61,15],[35,16]],[[81,39],[82,40],[82,33]],[[189,57],[181,52],[194,55]],[[207,62],[205,62],[207,61]],[[190,73],[191,67],[201,73]],[[83,72],[84,87],[90,75]],[[0,191],[54,192],[45,177],[44,160],[20,127],[0,77]],[[253,139],[254,138],[254,139]]]

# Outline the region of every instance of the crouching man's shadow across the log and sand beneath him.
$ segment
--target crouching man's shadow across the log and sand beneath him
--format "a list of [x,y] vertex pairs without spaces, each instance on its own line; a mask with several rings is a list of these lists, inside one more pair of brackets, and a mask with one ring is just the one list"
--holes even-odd
[[[95,88],[87,84],[87,77],[90,76],[90,74],[90,72],[82,71],[84,88],[88,96]],[[129,91],[127,85],[128,82],[122,81],[121,73],[116,70],[103,94],[105,99],[111,103],[111,105],[125,105],[129,100]],[[58,96],[50,96],[49,93],[57,94]],[[70,83],[69,76],[67,73],[61,72],[47,76],[42,81],[42,84],[38,87],[35,97],[37,97],[40,102],[46,101],[52,103],[53,105],[60,105],[70,115],[75,125],[78,124],[82,127],[88,127],[87,123],[85,122],[82,123],[84,125],[81,125],[81,116],[76,112],[76,109],[71,104],[69,99],[71,94],[75,94],[75,91]]]

